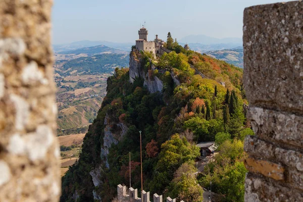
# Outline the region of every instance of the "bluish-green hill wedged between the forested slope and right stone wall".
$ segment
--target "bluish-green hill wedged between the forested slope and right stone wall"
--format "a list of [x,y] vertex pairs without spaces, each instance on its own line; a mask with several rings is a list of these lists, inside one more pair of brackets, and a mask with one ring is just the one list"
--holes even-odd
[[237,67],[243,68],[243,48],[236,47],[232,49],[223,49],[220,51],[210,51],[205,53],[213,58],[233,64]]

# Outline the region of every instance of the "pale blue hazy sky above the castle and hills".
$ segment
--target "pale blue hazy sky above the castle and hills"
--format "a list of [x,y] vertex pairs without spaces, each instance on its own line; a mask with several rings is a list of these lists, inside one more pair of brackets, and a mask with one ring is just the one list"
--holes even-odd
[[[146,21],[149,39],[190,34],[242,37],[245,7],[279,0],[54,0],[53,43],[132,42]],[[287,1],[286,1],[287,2]],[[149,40],[148,39],[148,40]]]

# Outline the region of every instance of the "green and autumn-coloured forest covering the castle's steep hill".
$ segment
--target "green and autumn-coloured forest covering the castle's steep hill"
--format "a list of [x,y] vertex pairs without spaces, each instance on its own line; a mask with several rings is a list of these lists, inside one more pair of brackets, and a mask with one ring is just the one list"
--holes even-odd
[[[143,78],[131,84],[128,68],[116,68],[108,78],[107,96],[85,135],[79,161],[63,177],[61,201],[94,201],[96,194],[102,201],[112,201],[118,184],[129,185],[129,153],[132,187],[140,195],[140,130],[144,190],[186,202],[202,201],[201,186],[208,188],[212,182],[212,190],[223,201],[243,201],[243,139],[254,132],[243,109],[247,101],[242,69],[185,51],[170,33],[165,46],[172,52],[156,59],[150,53],[130,53],[144,72],[161,79],[162,92],[148,92]],[[195,69],[206,78],[195,74]],[[117,137],[121,124],[127,131]],[[118,141],[105,157],[107,127]],[[195,177],[194,161],[200,156],[195,144],[200,141],[215,141],[219,154]],[[94,186],[89,173],[97,168],[99,183]]]

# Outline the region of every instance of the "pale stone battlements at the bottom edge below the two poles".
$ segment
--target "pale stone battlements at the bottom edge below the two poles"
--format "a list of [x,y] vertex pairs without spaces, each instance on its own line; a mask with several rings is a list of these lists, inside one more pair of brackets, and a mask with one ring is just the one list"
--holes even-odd
[[[142,202],[142,199],[138,197],[138,189],[134,189],[130,187],[129,194],[126,194],[126,186],[122,186],[121,184],[119,184],[117,186],[117,192],[118,192],[118,197],[117,197],[118,201]],[[149,191],[146,192],[143,190],[142,195],[143,195],[143,202],[150,202]],[[155,193],[153,197],[154,197],[154,202],[163,202],[162,195],[158,195],[157,193]],[[176,198],[172,199],[171,197],[167,197],[166,202],[176,202]],[[184,202],[184,201],[181,200],[180,202]]]

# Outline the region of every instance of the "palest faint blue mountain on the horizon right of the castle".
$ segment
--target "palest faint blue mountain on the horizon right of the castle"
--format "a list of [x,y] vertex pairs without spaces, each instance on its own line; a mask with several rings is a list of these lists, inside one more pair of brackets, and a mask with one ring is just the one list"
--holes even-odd
[[182,43],[201,43],[201,44],[220,44],[220,43],[233,43],[242,45],[242,38],[215,38],[206,36],[203,34],[199,35],[188,35],[179,40]]

